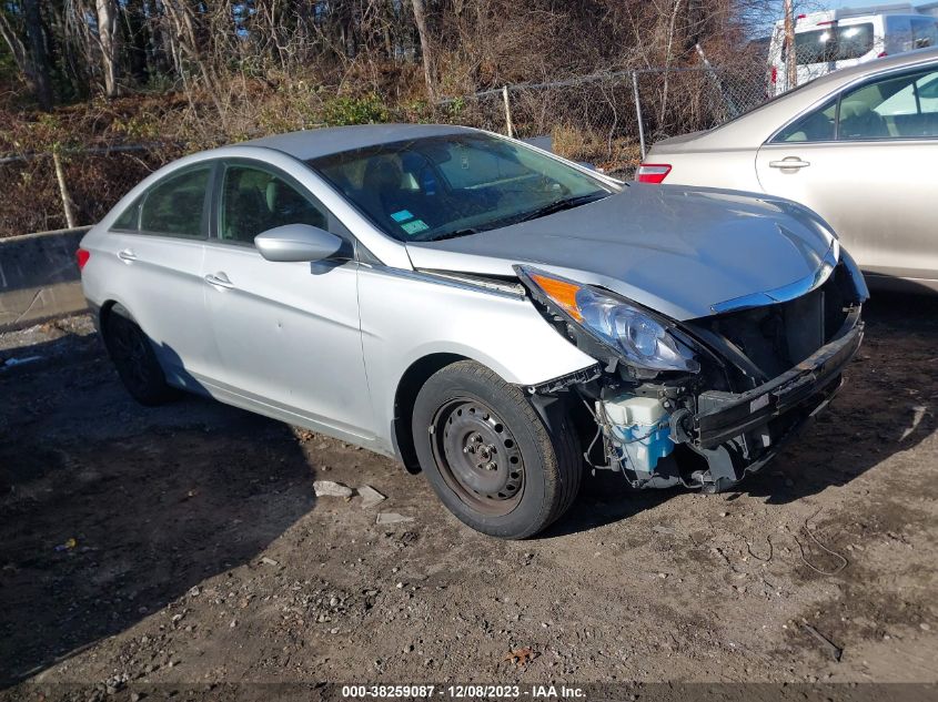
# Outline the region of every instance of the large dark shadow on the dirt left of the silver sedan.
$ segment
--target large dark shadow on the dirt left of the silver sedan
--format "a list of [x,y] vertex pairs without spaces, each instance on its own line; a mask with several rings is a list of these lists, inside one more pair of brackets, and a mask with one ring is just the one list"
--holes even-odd
[[314,507],[288,425],[198,397],[141,407],[94,335],[10,357],[23,363],[0,370],[0,689],[256,562]]

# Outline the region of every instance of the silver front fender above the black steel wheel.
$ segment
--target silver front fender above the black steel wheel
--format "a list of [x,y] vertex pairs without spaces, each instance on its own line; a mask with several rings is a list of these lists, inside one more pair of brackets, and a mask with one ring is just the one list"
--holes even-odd
[[359,304],[375,434],[391,449],[397,386],[422,358],[462,356],[523,386],[596,365],[521,294],[420,272],[362,267]]

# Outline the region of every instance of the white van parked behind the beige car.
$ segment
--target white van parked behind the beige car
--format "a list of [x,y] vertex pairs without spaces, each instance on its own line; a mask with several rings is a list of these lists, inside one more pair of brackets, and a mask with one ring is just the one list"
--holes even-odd
[[[916,12],[911,4],[828,10],[795,19],[798,85],[838,69],[874,59],[938,45],[938,18]],[[788,90],[785,22],[769,42],[768,96]]]

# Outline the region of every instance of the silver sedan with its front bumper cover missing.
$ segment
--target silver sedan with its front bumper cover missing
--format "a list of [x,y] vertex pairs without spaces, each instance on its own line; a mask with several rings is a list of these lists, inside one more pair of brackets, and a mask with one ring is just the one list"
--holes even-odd
[[868,296],[791,202],[434,125],[188,156],[78,255],[138,400],[199,393],[396,457],[505,538],[589,469],[736,485],[837,391]]

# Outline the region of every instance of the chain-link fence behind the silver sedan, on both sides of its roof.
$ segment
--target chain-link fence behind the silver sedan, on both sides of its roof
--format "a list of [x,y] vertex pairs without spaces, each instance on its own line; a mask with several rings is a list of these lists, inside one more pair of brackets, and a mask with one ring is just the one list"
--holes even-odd
[[[645,69],[448,99],[432,119],[548,136],[556,153],[627,179],[658,139],[716,126],[766,98],[762,70]],[[0,157],[0,236],[92,224],[182,153],[179,144],[149,143]]]

